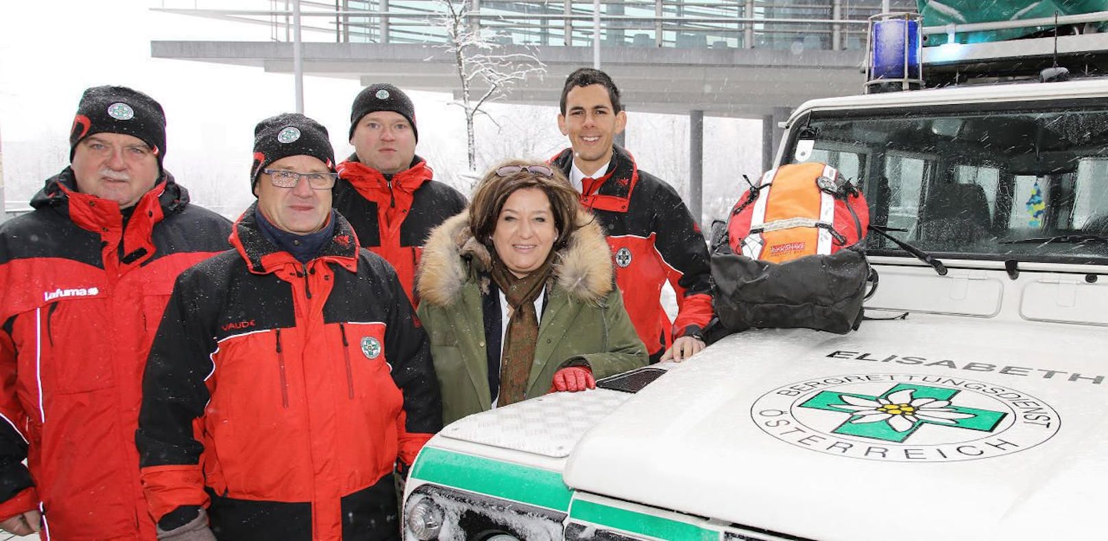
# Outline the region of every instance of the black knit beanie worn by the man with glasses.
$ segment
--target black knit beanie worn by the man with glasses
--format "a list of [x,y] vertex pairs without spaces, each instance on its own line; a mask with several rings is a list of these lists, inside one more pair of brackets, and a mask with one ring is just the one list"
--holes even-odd
[[281,113],[254,127],[254,165],[250,167],[250,190],[258,183],[261,170],[288,156],[312,156],[335,172],[335,150],[320,123],[300,114]]

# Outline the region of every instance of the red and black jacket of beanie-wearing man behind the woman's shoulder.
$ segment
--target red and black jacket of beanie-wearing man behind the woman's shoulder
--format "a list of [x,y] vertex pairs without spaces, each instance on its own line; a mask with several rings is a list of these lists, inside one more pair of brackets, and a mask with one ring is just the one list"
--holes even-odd
[[350,221],[362,247],[384,257],[400,276],[414,304],[412,285],[431,229],[465,210],[465,197],[432,180],[434,173],[419,156],[412,166],[386,178],[380,171],[351,155],[338,165],[341,180],[332,191],[332,206]]

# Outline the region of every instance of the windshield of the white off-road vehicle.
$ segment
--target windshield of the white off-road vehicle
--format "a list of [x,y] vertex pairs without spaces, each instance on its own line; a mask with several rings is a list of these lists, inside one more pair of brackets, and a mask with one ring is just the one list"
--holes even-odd
[[[871,223],[947,257],[1108,263],[1108,101],[817,111],[786,153],[862,187]],[[1081,236],[1078,236],[1081,235]],[[902,255],[870,235],[870,254]]]

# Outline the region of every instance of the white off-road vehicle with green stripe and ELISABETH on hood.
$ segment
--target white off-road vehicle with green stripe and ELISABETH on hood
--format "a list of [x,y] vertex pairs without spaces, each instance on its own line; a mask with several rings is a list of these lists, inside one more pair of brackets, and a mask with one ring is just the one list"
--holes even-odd
[[870,235],[856,331],[748,330],[450,425],[407,540],[1108,538],[1108,80],[817,100],[781,146],[942,265]]

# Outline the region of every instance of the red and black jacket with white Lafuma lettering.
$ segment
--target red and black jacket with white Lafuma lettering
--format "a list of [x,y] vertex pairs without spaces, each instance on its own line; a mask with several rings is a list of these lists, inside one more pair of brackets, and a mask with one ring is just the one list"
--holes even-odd
[[125,222],[70,169],[31,206],[0,225],[0,520],[41,509],[43,539],[153,541],[142,370],[174,278],[225,251],[230,222],[168,174]]

